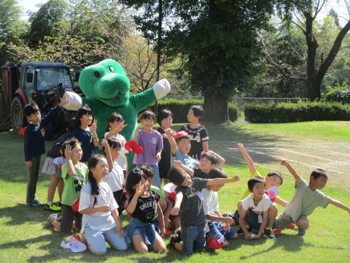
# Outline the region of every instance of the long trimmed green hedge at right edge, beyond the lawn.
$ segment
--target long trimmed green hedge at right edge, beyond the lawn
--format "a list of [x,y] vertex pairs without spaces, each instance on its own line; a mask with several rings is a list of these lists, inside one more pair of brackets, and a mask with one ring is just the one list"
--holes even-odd
[[350,106],[329,102],[251,103],[244,105],[244,116],[251,123],[350,120]]

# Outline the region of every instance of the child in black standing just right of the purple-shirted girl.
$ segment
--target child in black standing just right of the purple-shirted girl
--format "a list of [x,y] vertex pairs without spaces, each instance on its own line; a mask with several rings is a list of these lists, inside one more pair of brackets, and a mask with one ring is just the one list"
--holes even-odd
[[163,139],[163,150],[162,150],[160,161],[158,162],[159,177],[160,177],[160,183],[162,183],[162,180],[164,179],[164,185],[169,183],[167,175],[172,165],[172,163],[170,163],[171,148],[170,148],[168,137],[165,134],[165,130],[167,128],[170,128],[173,117],[174,116],[172,112],[169,110],[162,110],[158,112],[158,115],[157,115],[157,122],[160,126],[158,128],[158,131],[162,135],[162,139]]

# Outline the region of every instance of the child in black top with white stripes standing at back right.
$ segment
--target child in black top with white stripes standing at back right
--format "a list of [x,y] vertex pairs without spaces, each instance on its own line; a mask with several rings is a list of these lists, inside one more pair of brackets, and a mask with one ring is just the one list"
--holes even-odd
[[191,136],[191,149],[189,156],[198,160],[202,151],[208,150],[208,133],[204,126],[199,124],[199,120],[204,116],[203,107],[193,105],[187,113],[189,124],[181,126],[179,131],[186,131]]

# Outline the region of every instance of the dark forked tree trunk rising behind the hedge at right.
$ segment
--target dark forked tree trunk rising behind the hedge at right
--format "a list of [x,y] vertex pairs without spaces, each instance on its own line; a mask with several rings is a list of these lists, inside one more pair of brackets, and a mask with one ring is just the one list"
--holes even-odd
[[[281,5],[279,5],[280,14],[285,17],[285,21],[287,23],[294,23],[305,36],[307,45],[306,85],[308,88],[308,97],[311,101],[321,98],[322,80],[338,54],[344,37],[350,30],[349,19],[339,30],[328,54],[318,53],[320,43],[314,32],[314,21],[318,14],[324,10],[328,2],[328,0],[288,0],[282,1]],[[348,2],[344,1],[344,3],[350,16]],[[296,20],[293,20],[293,12],[299,14]]]

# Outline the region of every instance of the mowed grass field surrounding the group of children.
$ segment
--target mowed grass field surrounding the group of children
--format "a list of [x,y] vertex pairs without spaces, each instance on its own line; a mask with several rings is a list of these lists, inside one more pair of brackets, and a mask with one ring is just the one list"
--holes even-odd
[[[294,180],[285,167],[279,166],[281,158],[290,160],[299,174],[308,180],[313,165],[328,169],[331,163],[339,161],[336,169],[327,171],[329,183],[322,190],[331,198],[350,206],[350,172],[346,169],[346,155],[350,155],[350,122],[304,122],[287,124],[236,124],[219,125],[205,123],[209,134],[209,149],[226,159],[224,170],[229,177],[239,174],[240,181],[226,184],[219,191],[220,211],[233,212],[243,191],[247,188],[250,172],[237,149],[243,143],[264,176],[271,170],[282,172],[285,182],[279,188],[281,197],[290,200],[294,193]],[[180,124],[173,125],[178,130]],[[316,144],[317,142],[317,144]],[[53,141],[46,142],[49,149]],[[163,254],[138,254],[107,250],[105,256],[97,257],[89,251],[73,253],[60,247],[62,240],[68,240],[47,223],[51,212],[43,208],[25,208],[27,174],[23,154],[23,137],[13,133],[0,133],[0,262],[349,262],[350,258],[350,215],[344,210],[329,205],[318,208],[309,216],[310,228],[306,238],[298,238],[296,229],[286,229],[277,240],[261,238],[246,241],[244,237],[229,241],[229,246],[220,250],[205,250],[190,256],[177,252],[165,237],[167,251]],[[331,145],[333,148],[325,148]],[[334,153],[322,160],[317,152],[305,153],[309,148],[323,149]],[[293,149],[292,149],[293,148]],[[265,150],[264,150],[265,149]],[[281,150],[282,149],[282,150]],[[283,151],[284,150],[284,151]],[[300,151],[299,151],[300,150]],[[254,151],[254,152],[253,152]],[[273,152],[271,152],[273,151]],[[295,153],[292,152],[297,152]],[[264,154],[263,154],[264,153]],[[280,154],[281,153],[281,154]],[[297,160],[299,153],[302,161]],[[337,154],[338,153],[338,154]],[[308,156],[307,156],[308,155]],[[300,157],[299,156],[299,157]],[[44,163],[46,156],[42,157]],[[320,157],[320,156],[317,156]],[[301,164],[302,163],[302,164]],[[315,165],[316,166],[316,165]],[[345,168],[345,169],[343,169]],[[338,172],[338,173],[336,173]],[[341,182],[337,177],[341,175]],[[346,184],[347,182],[347,184]],[[37,187],[38,198],[45,202],[50,178],[40,174]],[[57,194],[55,201],[58,201]],[[279,207],[282,211],[283,207]],[[128,220],[121,216],[125,226]],[[236,227],[237,228],[237,227]],[[74,233],[75,234],[75,233]]]

